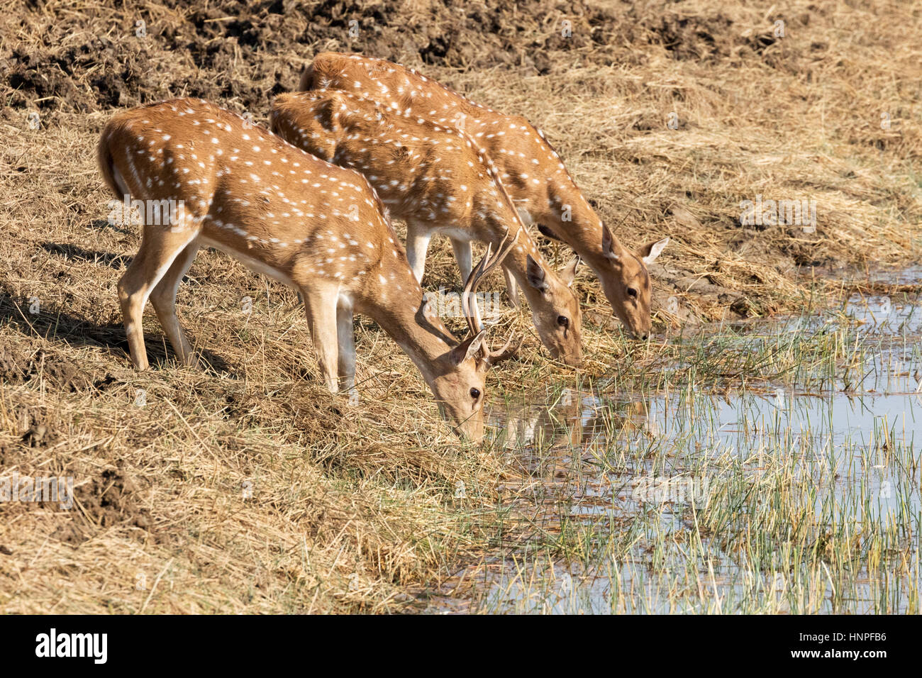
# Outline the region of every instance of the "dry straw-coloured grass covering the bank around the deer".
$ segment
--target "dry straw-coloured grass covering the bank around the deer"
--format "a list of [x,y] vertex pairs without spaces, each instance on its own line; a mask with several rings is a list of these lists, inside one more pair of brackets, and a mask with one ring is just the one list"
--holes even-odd
[[[239,9],[226,5],[209,12]],[[272,91],[293,87],[311,54],[348,48],[310,28],[320,23],[310,12],[286,23],[266,5],[246,18],[255,44],[245,27],[236,40],[215,38],[208,31],[231,31],[228,22],[196,28],[195,10],[180,5],[137,6],[151,36],[140,46],[129,29],[136,12],[100,2],[18,6],[0,19],[0,59],[20,76],[0,83],[0,474],[73,475],[79,500],[66,512],[0,505],[4,612],[412,610],[415,592],[489,553],[505,529],[495,485],[517,471],[443,430],[390,339],[361,319],[361,405],[331,398],[313,378],[294,294],[227,257],[202,252],[179,296],[210,369],[177,367],[152,313],[154,367],[129,368],[115,283],[137,232],[105,220],[97,135],[116,105],[187,93],[264,119]],[[660,330],[797,310],[813,278],[798,267],[815,266],[833,292],[842,268],[917,260],[918,6],[795,2],[767,16],[748,2],[590,4],[570,45],[553,37],[566,15],[536,5],[546,20],[495,10],[502,40],[518,40],[515,22],[527,26],[517,51],[427,53],[434,63],[421,67],[542,126],[624,241],[673,239],[654,270]],[[433,6],[444,11],[410,3],[388,16],[396,25],[405,15],[412,29],[432,20]],[[766,45],[760,36],[776,18],[786,37]],[[590,29],[605,42],[580,35]],[[369,53],[420,59],[388,35],[373,33]],[[458,38],[478,39],[467,29]],[[30,111],[41,115],[38,130]],[[667,126],[671,112],[678,129]],[[816,232],[740,227],[739,202],[757,194],[815,199]],[[559,265],[568,258],[556,244],[545,251]],[[427,286],[455,284],[448,248],[436,244],[431,256]],[[577,288],[588,311],[586,375],[628,351],[636,364],[656,360],[656,344],[612,331],[585,271]],[[672,296],[678,313],[668,311]],[[244,297],[254,300],[249,315]],[[495,401],[573,378],[548,362],[526,312],[503,321],[526,343],[520,361],[491,377]]]

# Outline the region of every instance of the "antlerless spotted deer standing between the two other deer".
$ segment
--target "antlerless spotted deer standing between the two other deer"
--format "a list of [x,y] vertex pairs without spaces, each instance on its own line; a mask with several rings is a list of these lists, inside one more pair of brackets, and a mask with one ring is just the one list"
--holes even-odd
[[451,239],[462,280],[470,273],[471,240],[497,247],[511,235],[515,245],[503,262],[510,297],[517,304],[518,283],[551,356],[582,363],[582,314],[570,289],[579,259],[560,274],[550,268],[496,168],[470,137],[336,89],[281,94],[269,120],[291,144],[365,175],[391,215],[407,221],[407,256],[417,280],[436,233]]

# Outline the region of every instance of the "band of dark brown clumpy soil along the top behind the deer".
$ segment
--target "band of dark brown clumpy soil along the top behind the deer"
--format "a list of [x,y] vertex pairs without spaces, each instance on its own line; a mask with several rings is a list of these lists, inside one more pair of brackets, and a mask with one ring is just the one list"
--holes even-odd
[[739,50],[759,54],[774,40],[741,37],[734,20],[719,11],[686,16],[585,0],[322,0],[309,6],[218,0],[195,7],[165,0],[136,12],[89,3],[79,27],[61,7],[44,10],[6,19],[13,24],[7,34],[33,37],[0,53],[8,72],[5,98],[15,108],[35,102],[87,113],[195,96],[263,111],[325,49],[545,75],[573,63],[633,62],[638,55],[630,45],[637,42],[661,45],[677,59],[702,60]]

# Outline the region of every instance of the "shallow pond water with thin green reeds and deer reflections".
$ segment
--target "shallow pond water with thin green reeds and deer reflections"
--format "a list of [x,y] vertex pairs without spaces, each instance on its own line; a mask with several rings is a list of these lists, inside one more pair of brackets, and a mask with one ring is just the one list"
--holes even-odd
[[[558,535],[582,524],[591,548],[565,562],[523,553],[485,561],[458,577],[476,582],[467,603],[541,613],[910,609],[917,554],[909,557],[915,565],[897,569],[874,555],[871,542],[860,557],[811,556],[809,566],[798,569],[774,565],[776,545],[769,545],[776,537],[766,537],[765,550],[754,553],[748,532],[739,538],[746,541],[742,552],[731,548],[737,538],[730,532],[719,541],[705,536],[695,553],[680,539],[701,534],[697,511],[725,504],[740,506],[727,508],[730,524],[740,511],[774,503],[762,520],[795,530],[794,517],[802,518],[798,529],[819,530],[810,532],[815,548],[822,548],[829,526],[848,526],[856,535],[916,533],[922,516],[918,303],[855,295],[836,313],[750,325],[732,350],[747,350],[750,340],[845,325],[861,351],[810,382],[816,387],[640,395],[597,383],[592,391],[549,387],[494,405],[487,415],[494,439],[525,479],[505,483],[501,494],[516,504],[531,534]],[[747,504],[756,488],[773,483],[782,489]],[[761,529],[758,521],[741,523]],[[622,539],[626,550],[618,545]],[[898,543],[891,542],[894,553],[903,548]],[[456,609],[455,601],[431,607],[446,609]]]

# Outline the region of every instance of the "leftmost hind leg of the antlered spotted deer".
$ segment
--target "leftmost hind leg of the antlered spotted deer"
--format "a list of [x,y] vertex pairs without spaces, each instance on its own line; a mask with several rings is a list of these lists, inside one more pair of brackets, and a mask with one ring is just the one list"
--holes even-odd
[[148,369],[148,351],[144,346],[144,327],[141,321],[144,306],[160,279],[197,235],[197,229],[185,228],[174,232],[169,226],[145,227],[141,247],[118,281],[124,331],[128,336],[131,361],[138,370]]

